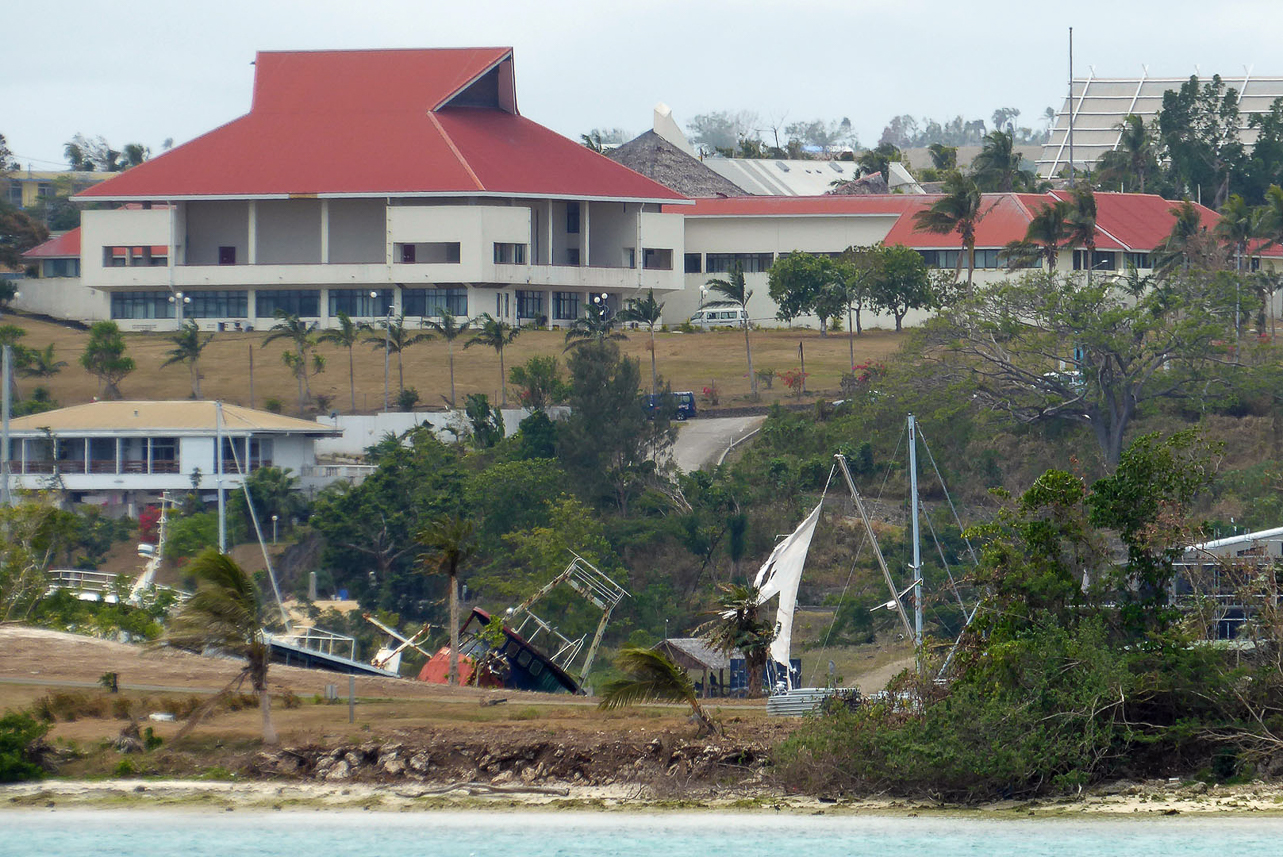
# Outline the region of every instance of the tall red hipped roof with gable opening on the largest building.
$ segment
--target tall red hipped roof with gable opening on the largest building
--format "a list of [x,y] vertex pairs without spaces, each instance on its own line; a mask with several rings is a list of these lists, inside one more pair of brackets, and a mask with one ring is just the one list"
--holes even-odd
[[[259,53],[250,112],[78,195],[547,195],[680,203],[516,113],[508,47]],[[448,103],[499,68],[500,108]]]

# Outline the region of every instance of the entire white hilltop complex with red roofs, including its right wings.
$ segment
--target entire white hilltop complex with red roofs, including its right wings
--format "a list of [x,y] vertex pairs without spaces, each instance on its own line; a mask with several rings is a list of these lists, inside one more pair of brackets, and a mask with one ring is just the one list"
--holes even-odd
[[[985,195],[976,280],[1011,276],[1001,250],[1065,198]],[[933,195],[686,199],[522,117],[507,47],[260,53],[249,113],[77,199],[105,208],[27,254],[53,276],[14,305],[130,330],[262,328],[277,312],[556,326],[648,289],[680,323],[736,264],[752,321],[776,325],[766,272],[793,250],[883,241],[944,269],[961,253],[915,227]],[[1058,269],[1148,269],[1174,203],[1096,200],[1094,258],[1065,250]],[[80,280],[55,263],[73,245]]]

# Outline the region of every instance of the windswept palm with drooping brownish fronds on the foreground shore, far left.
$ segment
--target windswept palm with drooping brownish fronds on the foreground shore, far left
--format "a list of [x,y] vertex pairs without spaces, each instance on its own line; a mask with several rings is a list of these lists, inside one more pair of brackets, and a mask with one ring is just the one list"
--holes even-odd
[[267,692],[269,649],[263,636],[263,603],[245,570],[214,548],[196,557],[186,571],[196,579],[196,593],[169,620],[158,640],[178,648],[216,649],[245,659],[245,666],[218,695],[198,708],[178,736],[191,731],[234,686],[249,679],[263,713],[263,743],[276,743],[272,727],[272,698]]

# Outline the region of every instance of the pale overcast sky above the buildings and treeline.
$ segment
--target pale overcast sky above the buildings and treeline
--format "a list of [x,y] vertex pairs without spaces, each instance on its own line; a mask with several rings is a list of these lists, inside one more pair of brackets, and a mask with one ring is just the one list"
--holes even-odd
[[576,139],[640,133],[656,101],[683,123],[845,115],[866,145],[899,113],[1035,126],[1070,26],[1079,74],[1283,74],[1283,0],[5,0],[0,19],[0,133],[36,169],[77,132],[159,151],[245,113],[257,50],[511,45],[522,114]]

